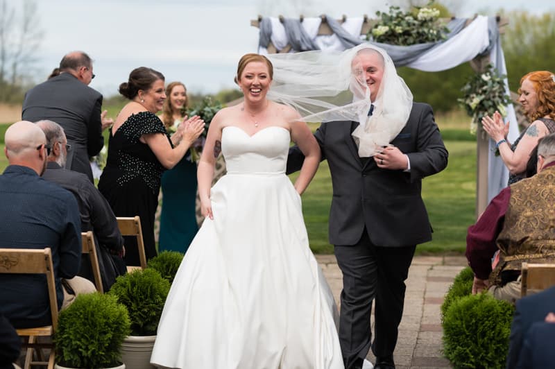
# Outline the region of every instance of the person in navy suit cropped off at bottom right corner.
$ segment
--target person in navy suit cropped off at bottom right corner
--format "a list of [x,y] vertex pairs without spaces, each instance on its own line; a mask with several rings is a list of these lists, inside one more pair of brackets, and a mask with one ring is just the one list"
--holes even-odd
[[[516,302],[511,325],[507,369],[552,368],[555,363],[553,342],[555,287]],[[540,363],[544,363],[540,365]],[[547,363],[547,365],[545,365]]]

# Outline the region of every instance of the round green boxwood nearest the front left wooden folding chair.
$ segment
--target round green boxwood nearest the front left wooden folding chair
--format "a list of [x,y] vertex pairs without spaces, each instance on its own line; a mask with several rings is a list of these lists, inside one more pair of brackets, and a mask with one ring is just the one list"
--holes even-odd
[[78,295],[60,311],[54,335],[56,361],[71,368],[110,368],[121,363],[119,349],[130,333],[126,307],[101,293]]

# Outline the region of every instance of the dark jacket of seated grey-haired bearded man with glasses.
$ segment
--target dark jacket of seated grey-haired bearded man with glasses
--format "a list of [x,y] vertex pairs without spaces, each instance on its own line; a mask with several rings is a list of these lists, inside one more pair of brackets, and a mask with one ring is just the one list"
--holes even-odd
[[[113,255],[121,252],[123,237],[121,237],[116,216],[112,212],[108,200],[104,198],[99,189],[94,187],[86,175],[63,169],[55,162],[48,162],[42,178],[58,184],[75,196],[81,218],[81,231],[90,230],[94,234],[102,284],[104,291],[110,290],[112,284],[116,282],[116,278],[125,272],[125,268],[123,271],[118,268],[118,266],[123,266],[123,259]],[[82,257],[88,258],[88,255],[82,255]],[[79,275],[94,282],[88,259],[87,262],[81,262]]]

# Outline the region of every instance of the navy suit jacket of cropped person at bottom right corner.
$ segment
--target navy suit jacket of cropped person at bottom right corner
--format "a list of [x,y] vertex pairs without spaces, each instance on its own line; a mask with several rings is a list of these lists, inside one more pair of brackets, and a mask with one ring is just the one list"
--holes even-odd
[[[524,338],[527,336],[530,327],[533,323],[543,322],[545,316],[551,311],[555,312],[555,287],[517,300],[515,316],[511,325],[511,337],[509,338],[507,369],[517,368]],[[553,341],[548,342],[552,347]]]

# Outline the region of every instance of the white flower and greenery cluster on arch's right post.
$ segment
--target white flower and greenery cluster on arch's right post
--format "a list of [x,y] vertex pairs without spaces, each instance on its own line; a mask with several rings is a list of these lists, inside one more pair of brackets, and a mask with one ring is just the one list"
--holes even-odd
[[492,65],[488,65],[484,73],[473,75],[461,88],[463,97],[458,100],[468,116],[472,117],[471,133],[476,132],[485,115],[492,116],[497,110],[503,117],[506,116],[505,106],[511,102],[511,98],[506,94],[505,77],[499,75]]

